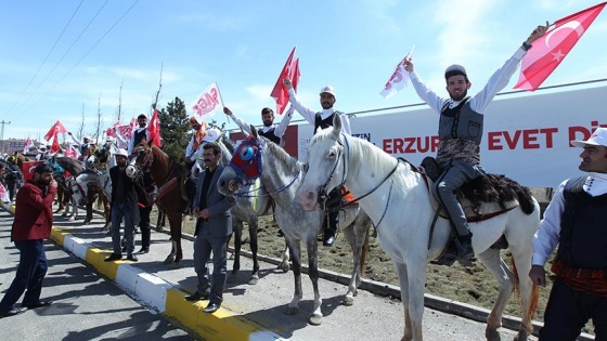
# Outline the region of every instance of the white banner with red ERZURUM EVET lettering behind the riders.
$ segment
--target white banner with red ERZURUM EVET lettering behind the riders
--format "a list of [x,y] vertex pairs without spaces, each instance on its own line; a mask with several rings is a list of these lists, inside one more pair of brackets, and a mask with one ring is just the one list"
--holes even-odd
[[[505,174],[531,187],[556,187],[578,170],[581,148],[572,140],[586,140],[597,127],[607,127],[607,87],[548,94],[498,99],[485,113],[481,166],[489,173]],[[436,157],[440,139],[439,115],[423,109],[352,117],[352,135],[384,152],[419,165]],[[299,159],[312,136],[312,127],[298,127]]]

